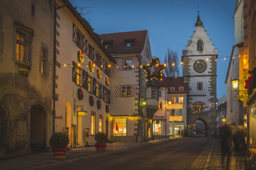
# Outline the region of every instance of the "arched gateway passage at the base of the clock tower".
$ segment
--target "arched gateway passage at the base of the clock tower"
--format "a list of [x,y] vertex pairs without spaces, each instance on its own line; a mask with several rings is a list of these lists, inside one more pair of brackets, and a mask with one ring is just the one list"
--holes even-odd
[[196,119],[192,124],[192,136],[207,136],[206,123],[202,119]]

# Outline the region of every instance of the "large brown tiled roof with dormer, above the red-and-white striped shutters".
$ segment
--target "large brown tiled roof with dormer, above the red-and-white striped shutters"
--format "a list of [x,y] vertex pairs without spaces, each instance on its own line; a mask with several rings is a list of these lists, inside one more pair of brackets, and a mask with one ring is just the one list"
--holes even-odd
[[[136,32],[118,32],[111,34],[98,34],[103,40],[103,44],[109,44],[110,53],[140,53],[145,45],[147,30]],[[131,42],[131,47],[127,48],[126,43]]]

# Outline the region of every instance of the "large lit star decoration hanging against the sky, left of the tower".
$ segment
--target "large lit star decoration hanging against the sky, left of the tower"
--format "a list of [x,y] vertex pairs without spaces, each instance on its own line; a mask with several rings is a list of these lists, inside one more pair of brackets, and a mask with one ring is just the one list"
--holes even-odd
[[[157,74],[153,73],[151,74],[151,70],[149,69],[150,67],[153,66],[153,69],[158,68],[158,72]],[[162,71],[165,69],[167,65],[166,64],[160,64],[160,62],[158,61],[158,59],[156,59],[155,57],[153,57],[153,59],[151,60],[151,62],[149,64],[146,64],[145,66],[143,66],[143,69],[146,73],[146,80],[162,80]]]

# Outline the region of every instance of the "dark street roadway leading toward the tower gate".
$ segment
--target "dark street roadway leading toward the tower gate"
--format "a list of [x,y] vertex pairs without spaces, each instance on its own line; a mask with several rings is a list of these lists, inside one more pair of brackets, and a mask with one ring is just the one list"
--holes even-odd
[[212,138],[177,138],[127,151],[99,155],[44,170],[188,170]]

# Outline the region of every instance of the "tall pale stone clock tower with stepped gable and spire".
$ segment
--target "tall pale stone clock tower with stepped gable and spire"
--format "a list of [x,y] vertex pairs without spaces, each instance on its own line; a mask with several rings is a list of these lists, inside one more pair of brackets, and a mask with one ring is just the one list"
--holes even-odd
[[188,84],[187,132],[189,136],[210,136],[216,132],[217,49],[200,19],[186,50],[182,51],[183,77]]

